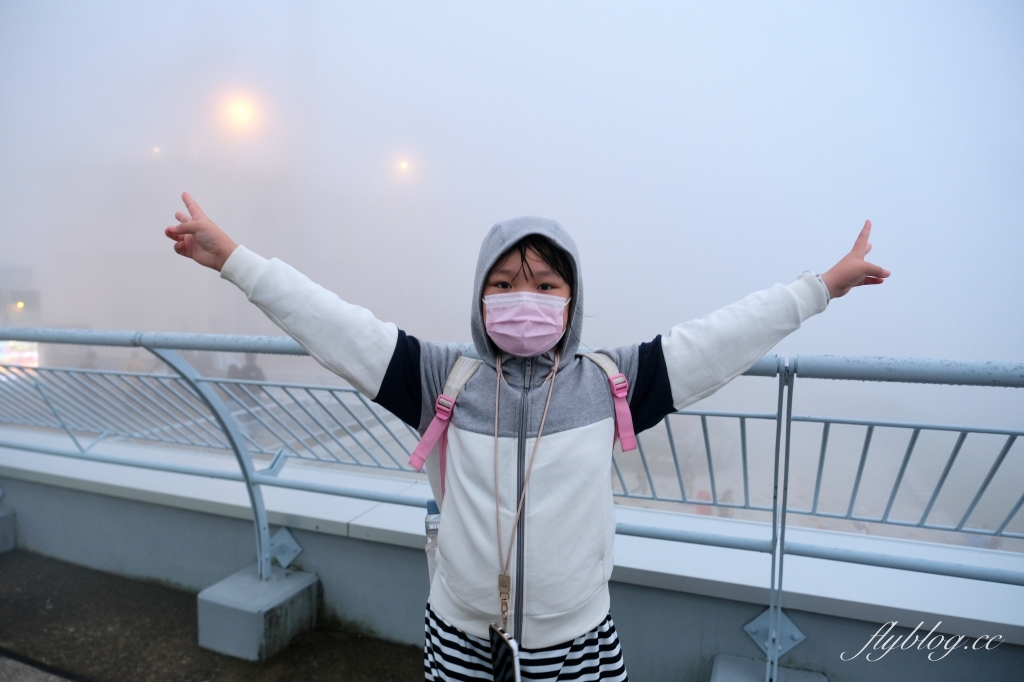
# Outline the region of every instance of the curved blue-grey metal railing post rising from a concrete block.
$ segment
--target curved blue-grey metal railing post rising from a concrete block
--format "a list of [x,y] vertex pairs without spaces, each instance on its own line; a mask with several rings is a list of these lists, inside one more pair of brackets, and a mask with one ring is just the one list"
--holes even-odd
[[239,461],[242,469],[242,477],[245,479],[246,491],[249,493],[249,502],[252,504],[253,520],[256,523],[256,571],[260,579],[270,580],[270,526],[266,520],[266,507],[263,505],[263,493],[259,483],[253,481],[256,469],[253,467],[252,459],[249,457],[249,449],[246,447],[245,438],[239,425],[231,417],[227,407],[220,396],[217,395],[208,383],[202,381],[199,372],[196,371],[185,358],[175,350],[166,348],[150,348],[151,353],[159,357],[165,365],[174,370],[181,379],[196,391],[196,395],[210,409],[220,429],[227,437],[227,442],[234,452],[234,458]]

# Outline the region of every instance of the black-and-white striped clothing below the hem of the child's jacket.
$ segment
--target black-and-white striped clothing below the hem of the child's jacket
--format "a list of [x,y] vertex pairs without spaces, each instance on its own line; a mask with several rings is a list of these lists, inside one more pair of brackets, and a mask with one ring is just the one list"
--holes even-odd
[[[490,642],[445,623],[427,603],[423,667],[427,682],[492,680]],[[609,614],[601,625],[543,649],[519,649],[523,680],[627,682],[615,624]]]

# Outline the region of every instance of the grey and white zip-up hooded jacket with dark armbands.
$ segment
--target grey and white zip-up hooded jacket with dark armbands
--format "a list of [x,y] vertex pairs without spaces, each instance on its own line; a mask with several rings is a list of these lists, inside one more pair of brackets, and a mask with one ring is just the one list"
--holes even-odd
[[[574,282],[569,325],[551,351],[523,358],[502,354],[483,326],[484,280],[498,258],[527,235],[543,235],[569,254]],[[509,550],[516,504],[560,353],[547,421],[511,543],[509,625],[526,648],[543,648],[588,632],[608,613],[615,531],[611,467],[614,407],[604,372],[575,355],[583,333],[584,288],[577,247],[556,222],[516,218],[496,224],[480,247],[470,310],[473,348],[420,341],[370,311],[341,300],[280,260],[239,247],[221,276],[241,288],[318,363],[422,434],[460,354],[483,365],[459,394],[449,427],[445,494],[436,450],[426,470],[440,501],[435,612],[459,629],[487,637],[501,622],[499,542]],[[699,400],[749,369],[768,349],[827,304],[820,280],[804,273],[652,341],[605,349],[629,381],[637,433]],[[301,301],[301,304],[297,302]],[[500,390],[498,486],[495,486],[496,390]],[[497,509],[496,509],[497,492]],[[496,514],[501,516],[498,538]]]

